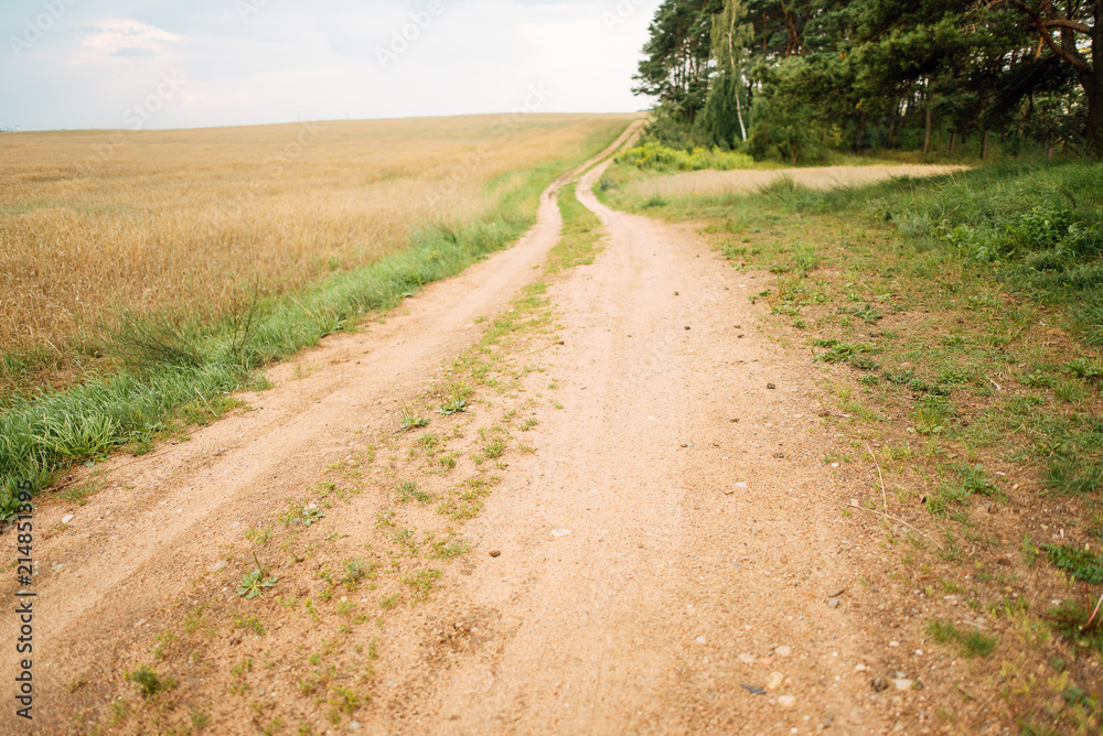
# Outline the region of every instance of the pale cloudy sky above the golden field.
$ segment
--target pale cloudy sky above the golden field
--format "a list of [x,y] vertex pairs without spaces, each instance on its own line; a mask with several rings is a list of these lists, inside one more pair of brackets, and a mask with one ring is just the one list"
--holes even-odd
[[661,0],[3,0],[0,129],[650,106]]

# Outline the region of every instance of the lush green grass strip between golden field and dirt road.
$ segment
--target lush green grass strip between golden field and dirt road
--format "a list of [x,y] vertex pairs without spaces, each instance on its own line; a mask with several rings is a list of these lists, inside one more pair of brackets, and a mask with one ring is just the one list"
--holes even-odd
[[[596,139],[593,150],[614,138]],[[217,324],[182,328],[159,317],[120,322],[104,336],[101,348],[117,356],[118,369],[63,390],[4,397],[0,517],[10,518],[20,483],[39,491],[71,463],[95,462],[119,448],[148,452],[196,419],[208,421],[231,408],[229,392],[263,382],[258,368],[328,334],[354,329],[368,313],[389,309],[420,286],[506,247],[535,221],[547,184],[583,160],[555,162],[496,183],[507,188],[482,219],[454,228],[426,227],[410,235],[406,250],[373,266],[299,293],[244,294],[242,309]]]

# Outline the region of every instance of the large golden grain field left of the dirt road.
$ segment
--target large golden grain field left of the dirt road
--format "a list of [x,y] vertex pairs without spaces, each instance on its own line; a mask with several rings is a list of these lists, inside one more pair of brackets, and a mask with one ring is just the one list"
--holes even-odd
[[630,117],[0,134],[0,353],[62,353],[121,309],[217,318],[243,283],[371,263],[411,229],[493,212],[525,171]]

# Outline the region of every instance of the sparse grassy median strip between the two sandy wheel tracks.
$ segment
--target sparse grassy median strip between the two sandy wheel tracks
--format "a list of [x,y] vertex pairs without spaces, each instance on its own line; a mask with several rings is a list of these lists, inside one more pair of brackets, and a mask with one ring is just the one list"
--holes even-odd
[[[599,240],[572,186],[559,203],[565,237],[546,278],[480,320],[481,338],[432,386],[396,401],[385,425],[350,437],[346,457],[265,507],[244,541],[221,548],[218,566],[73,683],[79,733],[368,725],[396,707],[388,680],[439,672],[493,628],[492,611],[457,611],[447,594],[438,598],[470,565],[467,555],[490,551],[473,549],[464,524],[515,458],[539,451],[535,415],[557,405],[542,366],[559,343],[546,291],[556,274],[589,262]],[[280,697],[264,696],[277,689]]]

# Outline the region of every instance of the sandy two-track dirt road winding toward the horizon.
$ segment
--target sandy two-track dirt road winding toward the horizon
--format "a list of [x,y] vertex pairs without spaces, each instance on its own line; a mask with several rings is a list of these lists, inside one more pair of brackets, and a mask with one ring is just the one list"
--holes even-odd
[[[543,277],[550,191],[516,247],[43,502],[35,721],[0,730],[925,733],[931,657],[889,646],[836,500],[876,478],[820,462],[820,379],[754,326],[767,275],[603,207],[600,173],[592,264]],[[433,413],[461,369],[468,410]],[[236,595],[257,562],[278,580]]]

